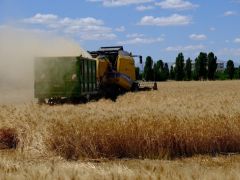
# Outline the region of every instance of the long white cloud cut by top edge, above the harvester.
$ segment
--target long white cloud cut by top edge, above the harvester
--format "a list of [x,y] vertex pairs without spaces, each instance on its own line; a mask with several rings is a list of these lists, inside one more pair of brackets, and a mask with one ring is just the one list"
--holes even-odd
[[131,4],[149,3],[153,0],[87,0],[89,2],[101,2],[105,7],[126,6]]

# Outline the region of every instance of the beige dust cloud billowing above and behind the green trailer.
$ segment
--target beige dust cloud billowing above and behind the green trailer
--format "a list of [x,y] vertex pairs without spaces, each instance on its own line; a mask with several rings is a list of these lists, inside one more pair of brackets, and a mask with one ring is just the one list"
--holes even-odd
[[34,100],[34,58],[89,57],[78,43],[54,33],[0,28],[0,104]]

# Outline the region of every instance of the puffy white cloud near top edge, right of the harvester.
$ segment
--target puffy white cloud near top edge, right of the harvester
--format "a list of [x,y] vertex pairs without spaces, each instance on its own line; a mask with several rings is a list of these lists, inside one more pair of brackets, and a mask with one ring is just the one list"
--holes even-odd
[[187,10],[198,7],[199,5],[193,4],[189,1],[184,0],[164,0],[161,2],[155,3],[157,6],[160,6],[162,9],[176,9],[176,10]]

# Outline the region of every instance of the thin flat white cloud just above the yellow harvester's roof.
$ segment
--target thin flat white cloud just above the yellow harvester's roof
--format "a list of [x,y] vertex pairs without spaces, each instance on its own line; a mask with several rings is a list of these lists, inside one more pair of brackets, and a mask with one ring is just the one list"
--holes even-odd
[[135,38],[131,38],[128,39],[126,41],[121,41],[118,42],[118,44],[153,44],[153,43],[159,43],[164,41],[164,39],[162,37],[158,37],[158,38],[147,38],[147,37],[135,37]]

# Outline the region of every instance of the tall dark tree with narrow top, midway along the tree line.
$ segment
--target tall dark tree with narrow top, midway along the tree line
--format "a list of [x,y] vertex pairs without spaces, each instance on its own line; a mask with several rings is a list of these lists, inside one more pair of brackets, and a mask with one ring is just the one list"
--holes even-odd
[[182,81],[183,78],[184,78],[184,56],[183,53],[179,53],[176,58],[175,79],[177,81]]

